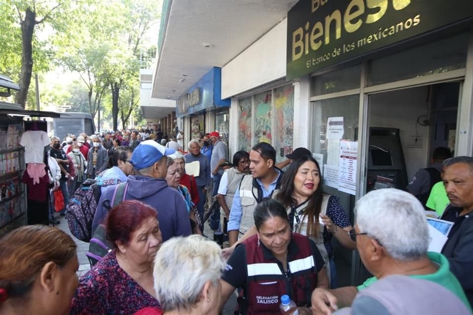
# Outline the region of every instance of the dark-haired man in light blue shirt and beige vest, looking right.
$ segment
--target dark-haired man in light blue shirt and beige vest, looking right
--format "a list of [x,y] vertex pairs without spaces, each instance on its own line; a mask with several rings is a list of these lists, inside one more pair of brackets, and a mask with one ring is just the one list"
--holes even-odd
[[253,227],[253,212],[264,198],[271,198],[279,189],[282,171],[274,166],[276,151],[266,143],[256,144],[250,151],[250,174],[243,176],[233,198],[227,225],[230,246],[235,244],[238,233],[243,235]]

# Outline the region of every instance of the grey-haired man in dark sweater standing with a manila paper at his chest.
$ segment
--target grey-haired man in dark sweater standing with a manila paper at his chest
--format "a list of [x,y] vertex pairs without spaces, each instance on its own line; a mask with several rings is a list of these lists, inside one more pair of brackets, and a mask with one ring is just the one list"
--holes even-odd
[[[205,203],[205,194],[207,193],[208,185],[210,184],[209,160],[201,153],[199,141],[191,140],[187,145],[187,148],[189,149],[190,153],[184,156],[186,164],[194,161],[199,162],[199,175],[195,177],[197,183],[197,191],[199,192],[199,203],[197,204],[197,211],[199,211],[201,218],[203,218],[203,205]],[[203,225],[201,226],[201,230],[203,231]]]

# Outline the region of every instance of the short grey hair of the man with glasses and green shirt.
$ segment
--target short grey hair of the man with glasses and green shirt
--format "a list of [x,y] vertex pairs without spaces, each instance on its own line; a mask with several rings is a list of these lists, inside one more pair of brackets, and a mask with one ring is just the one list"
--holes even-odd
[[370,191],[357,201],[355,213],[360,232],[376,239],[394,259],[426,255],[430,237],[424,207],[410,193],[394,188]]

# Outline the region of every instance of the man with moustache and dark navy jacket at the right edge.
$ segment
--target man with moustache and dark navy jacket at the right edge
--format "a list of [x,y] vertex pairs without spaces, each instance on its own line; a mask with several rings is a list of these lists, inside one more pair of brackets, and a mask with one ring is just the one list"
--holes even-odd
[[443,184],[450,206],[441,219],[453,225],[442,254],[473,305],[473,158],[455,157],[443,164]]

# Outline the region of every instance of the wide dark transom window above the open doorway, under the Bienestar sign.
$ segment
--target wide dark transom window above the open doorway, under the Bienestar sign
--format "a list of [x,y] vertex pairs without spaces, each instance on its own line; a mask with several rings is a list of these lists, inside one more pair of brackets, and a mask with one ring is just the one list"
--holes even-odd
[[468,34],[462,33],[368,63],[368,86],[465,67]]

